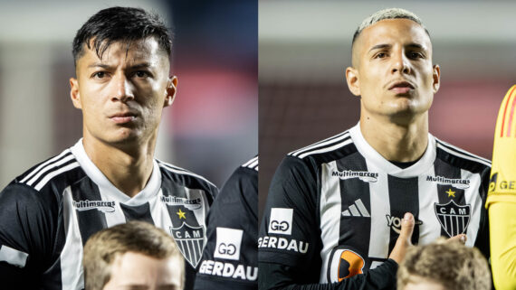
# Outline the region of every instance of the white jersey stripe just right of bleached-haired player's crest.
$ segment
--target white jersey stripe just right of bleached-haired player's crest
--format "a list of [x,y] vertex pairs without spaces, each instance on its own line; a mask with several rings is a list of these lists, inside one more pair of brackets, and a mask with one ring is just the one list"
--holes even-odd
[[467,170],[461,169],[461,179],[469,179],[470,187],[464,190],[464,199],[466,204],[470,204],[470,222],[466,235],[466,246],[473,247],[480,228],[480,215],[483,209],[482,198],[479,193],[481,187],[482,178],[480,174],[471,173]]

